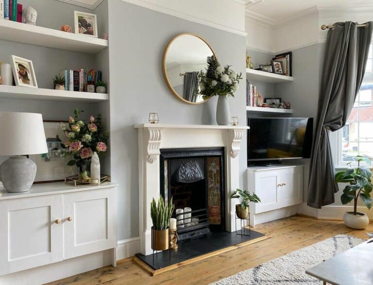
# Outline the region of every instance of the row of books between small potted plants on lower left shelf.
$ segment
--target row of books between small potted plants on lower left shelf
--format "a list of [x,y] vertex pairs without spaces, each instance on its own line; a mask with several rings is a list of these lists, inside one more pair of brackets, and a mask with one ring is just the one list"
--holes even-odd
[[95,85],[97,81],[102,80],[102,72],[93,69],[85,72],[83,68],[78,70],[62,70],[61,77],[65,77],[65,90],[87,92],[87,85]]

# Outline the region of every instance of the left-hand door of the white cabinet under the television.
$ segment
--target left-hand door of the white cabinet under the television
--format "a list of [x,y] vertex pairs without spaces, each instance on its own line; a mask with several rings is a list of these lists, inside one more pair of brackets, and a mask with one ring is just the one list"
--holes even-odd
[[261,201],[255,204],[255,214],[279,208],[277,188],[280,177],[278,171],[256,171],[254,180],[255,193]]

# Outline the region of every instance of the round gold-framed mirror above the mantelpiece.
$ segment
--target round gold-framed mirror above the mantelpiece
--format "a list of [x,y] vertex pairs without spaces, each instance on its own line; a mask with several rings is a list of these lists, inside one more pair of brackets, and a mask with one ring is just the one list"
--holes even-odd
[[207,56],[215,55],[214,50],[201,36],[179,34],[168,44],[163,54],[163,75],[171,92],[181,101],[200,104],[198,74],[207,67]]

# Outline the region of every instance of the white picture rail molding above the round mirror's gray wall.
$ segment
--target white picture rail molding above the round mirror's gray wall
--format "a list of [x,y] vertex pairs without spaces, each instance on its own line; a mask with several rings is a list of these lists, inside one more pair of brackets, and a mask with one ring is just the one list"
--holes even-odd
[[180,13],[180,12],[177,12],[177,11],[165,8],[165,7],[154,5],[154,4],[148,3],[148,2],[143,1],[143,0],[121,0],[121,1],[128,2],[128,3],[131,3],[131,4],[135,4],[137,6],[148,8],[148,9],[151,9],[151,10],[154,10],[154,11],[157,11],[157,12],[161,12],[161,13],[164,13],[164,14],[167,14],[167,15],[178,17],[178,18],[182,18],[182,19],[185,19],[185,20],[188,20],[188,21],[191,21],[191,22],[195,22],[195,23],[198,23],[198,24],[205,25],[205,26],[209,26],[209,27],[212,27],[212,28],[215,28],[215,29],[219,29],[219,30],[222,30],[222,31],[225,31],[225,32],[232,33],[232,34],[238,34],[238,35],[241,35],[241,36],[246,36],[247,35],[247,33],[244,32],[244,31],[239,31],[239,30],[232,29],[232,28],[224,26],[224,25],[209,22],[209,21],[200,19],[198,17],[194,17],[194,16],[187,15],[187,14],[184,14],[184,13]]

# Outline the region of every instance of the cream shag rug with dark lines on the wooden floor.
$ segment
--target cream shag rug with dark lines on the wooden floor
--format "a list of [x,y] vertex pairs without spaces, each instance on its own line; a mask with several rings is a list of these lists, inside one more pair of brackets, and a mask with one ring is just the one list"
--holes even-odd
[[[347,251],[364,240],[350,235],[336,235],[314,245],[263,263],[255,268],[241,271],[221,279],[213,285],[318,285],[322,281],[305,273],[333,256]],[[336,268],[336,270],[343,270]]]

